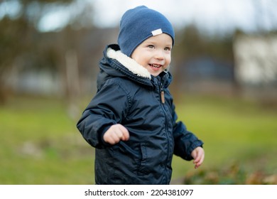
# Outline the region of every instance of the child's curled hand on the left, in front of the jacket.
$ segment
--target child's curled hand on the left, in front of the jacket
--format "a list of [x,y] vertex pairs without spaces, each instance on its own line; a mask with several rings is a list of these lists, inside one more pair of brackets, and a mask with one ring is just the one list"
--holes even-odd
[[127,141],[129,131],[121,124],[114,124],[104,133],[103,139],[109,144],[116,144],[121,140]]

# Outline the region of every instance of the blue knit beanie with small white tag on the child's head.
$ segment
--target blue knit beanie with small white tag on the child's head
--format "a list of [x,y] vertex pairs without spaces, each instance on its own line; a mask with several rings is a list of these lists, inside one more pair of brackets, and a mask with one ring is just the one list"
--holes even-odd
[[166,33],[174,44],[174,30],[171,23],[163,14],[146,6],[130,9],[122,16],[117,42],[120,50],[129,57],[136,47],[151,36]]

